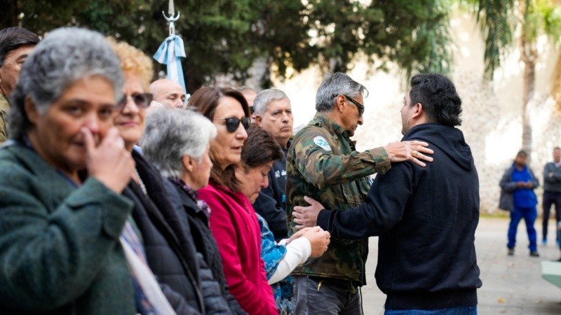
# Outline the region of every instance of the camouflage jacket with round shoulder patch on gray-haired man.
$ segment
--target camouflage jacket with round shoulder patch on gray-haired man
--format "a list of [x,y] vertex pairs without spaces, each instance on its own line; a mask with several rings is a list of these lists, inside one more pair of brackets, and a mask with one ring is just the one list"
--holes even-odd
[[[292,141],[287,157],[286,211],[288,235],[294,234],[294,206],[307,205],[312,197],[325,209],[353,209],[365,199],[372,180],[369,175],[391,168],[384,148],[357,152],[349,131],[316,113]],[[368,239],[331,239],[327,251],[310,258],[292,274],[323,276],[366,284]]]

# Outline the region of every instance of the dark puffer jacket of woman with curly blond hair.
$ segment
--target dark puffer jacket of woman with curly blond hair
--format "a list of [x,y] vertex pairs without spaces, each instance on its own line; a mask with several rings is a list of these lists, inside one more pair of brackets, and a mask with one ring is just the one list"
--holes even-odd
[[[150,269],[161,283],[163,293],[177,314],[231,314],[227,304],[213,299],[200,255],[189,230],[168,200],[164,180],[158,170],[133,151],[137,172],[147,194],[131,182],[123,191],[135,202],[133,218],[141,232]],[[215,283],[219,288],[218,283]]]

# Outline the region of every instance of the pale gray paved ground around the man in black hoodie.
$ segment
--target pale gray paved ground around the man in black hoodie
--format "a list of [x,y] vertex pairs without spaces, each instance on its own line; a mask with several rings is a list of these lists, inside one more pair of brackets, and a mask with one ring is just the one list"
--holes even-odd
[[[522,221],[518,226],[515,255],[507,256],[507,228],[506,218],[482,218],[475,234],[475,250],[483,281],[478,290],[478,314],[561,314],[561,288],[541,278],[541,260],[557,260],[560,257],[559,248],[554,246],[555,235],[550,232],[548,246],[539,247],[541,257],[529,257]],[[536,229],[541,239],[541,222],[536,224]],[[549,231],[555,231],[554,221],[550,221]],[[374,281],[377,245],[377,237],[371,237],[367,262],[369,284],[363,288],[365,315],[384,314],[386,295],[380,292]]]

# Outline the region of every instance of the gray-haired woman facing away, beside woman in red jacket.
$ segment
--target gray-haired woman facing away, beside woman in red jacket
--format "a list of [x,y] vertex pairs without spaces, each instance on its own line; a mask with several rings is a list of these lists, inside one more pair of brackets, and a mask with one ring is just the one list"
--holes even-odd
[[[144,157],[165,177],[168,200],[180,216],[185,237],[196,247],[205,300],[213,304],[227,302],[231,314],[246,314],[229,293],[222,258],[208,219],[210,209],[197,199],[197,190],[210,178],[210,141],[217,130],[205,116],[184,109],[158,109],[146,120],[140,139]],[[210,297],[209,297],[210,296]]]

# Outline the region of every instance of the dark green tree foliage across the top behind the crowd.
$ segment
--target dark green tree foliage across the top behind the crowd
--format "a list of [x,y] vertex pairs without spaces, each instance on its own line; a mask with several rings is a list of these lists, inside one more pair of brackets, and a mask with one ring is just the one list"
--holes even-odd
[[[9,2],[16,3],[16,15],[22,13],[20,25],[39,35],[61,26],[88,27],[147,55],[168,36],[161,14],[168,10],[165,0]],[[396,62],[408,73],[447,72],[452,57],[447,5],[446,0],[186,0],[175,1],[181,12],[175,29],[184,39],[182,64],[191,92],[212,84],[219,73],[243,81],[258,57],[279,76],[311,64],[346,71],[357,55],[367,57],[370,69]]]

